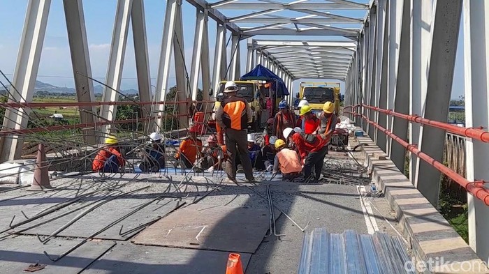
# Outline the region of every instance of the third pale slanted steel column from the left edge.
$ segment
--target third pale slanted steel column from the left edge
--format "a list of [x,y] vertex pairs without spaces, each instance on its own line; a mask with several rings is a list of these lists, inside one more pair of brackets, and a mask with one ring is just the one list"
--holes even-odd
[[[168,77],[170,75],[171,50],[173,47],[173,33],[175,31],[175,16],[177,14],[178,1],[180,0],[168,0],[166,2],[158,78],[156,79],[156,91],[154,93],[154,100],[161,102],[166,100],[166,93],[168,93]],[[166,130],[163,128],[163,119],[158,118],[158,116],[163,116],[163,107],[164,105],[158,105],[158,113],[156,114],[155,120],[158,130]]]

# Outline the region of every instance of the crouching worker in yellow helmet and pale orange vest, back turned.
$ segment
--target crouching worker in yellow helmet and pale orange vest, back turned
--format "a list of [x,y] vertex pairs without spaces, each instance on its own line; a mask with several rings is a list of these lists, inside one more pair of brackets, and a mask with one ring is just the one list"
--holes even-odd
[[277,174],[280,169],[284,180],[293,180],[299,177],[302,172],[302,165],[298,153],[293,149],[287,149],[282,139],[278,139],[275,142],[275,149],[278,152],[275,155],[273,174]]

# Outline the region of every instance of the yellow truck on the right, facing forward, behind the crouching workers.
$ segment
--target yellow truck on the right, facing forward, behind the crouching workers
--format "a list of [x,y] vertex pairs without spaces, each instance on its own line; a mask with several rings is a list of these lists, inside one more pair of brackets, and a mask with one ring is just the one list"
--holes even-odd
[[302,82],[299,91],[300,100],[309,102],[312,112],[320,113],[325,102],[335,103],[335,114],[340,114],[340,83]]

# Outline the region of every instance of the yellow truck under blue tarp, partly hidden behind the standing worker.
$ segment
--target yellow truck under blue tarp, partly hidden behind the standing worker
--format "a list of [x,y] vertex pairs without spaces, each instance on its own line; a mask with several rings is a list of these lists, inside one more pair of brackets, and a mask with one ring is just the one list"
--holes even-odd
[[[238,97],[245,98],[253,111],[253,120],[249,123],[249,127],[258,132],[268,119],[268,112],[266,109],[262,109],[261,102],[264,102],[265,97],[260,89],[260,83],[258,81],[235,81],[236,86],[238,86]],[[226,86],[226,81],[219,82],[219,88],[216,93],[216,102],[214,105],[214,114],[221,105],[221,94],[224,93],[224,86]],[[258,96],[257,96],[258,95]],[[265,121],[265,123],[263,123]]]

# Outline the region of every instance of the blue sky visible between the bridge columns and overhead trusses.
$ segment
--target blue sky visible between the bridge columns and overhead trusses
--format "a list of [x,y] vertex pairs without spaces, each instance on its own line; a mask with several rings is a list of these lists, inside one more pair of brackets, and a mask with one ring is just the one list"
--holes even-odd
[[[366,1],[366,0],[364,0]],[[27,10],[27,0],[0,0],[0,70],[6,73],[10,79],[13,77],[17,53],[22,35],[24,17]],[[149,69],[152,77],[152,84],[156,84],[159,55],[161,48],[161,38],[163,36],[163,20],[166,8],[164,0],[145,0],[147,45],[149,53]],[[115,8],[117,0],[83,0],[85,11],[85,25],[87,29],[87,40],[89,44],[89,54],[92,66],[92,76],[103,81],[108,67],[108,57],[110,43],[112,40],[112,29],[115,18]],[[225,10],[224,15],[233,17],[242,14],[235,10]],[[338,11],[338,15],[349,17],[363,17],[364,13],[358,11]],[[184,54],[185,66],[190,71],[191,56],[194,47],[194,31],[196,9],[187,1],[183,1],[182,15],[184,18]],[[278,14],[277,14],[278,15]],[[295,12],[282,12],[280,15],[303,15]],[[8,27],[5,27],[8,26]],[[247,25],[243,25],[247,26]],[[214,45],[216,23],[210,19],[209,46],[210,46],[210,66],[214,59]],[[462,34],[462,33],[461,33]],[[255,36],[256,39],[297,39],[295,37],[276,36],[264,37]],[[309,40],[325,40],[327,37],[312,37]],[[453,80],[452,98],[458,98],[463,94],[463,45],[462,35],[459,36],[457,58],[455,61],[455,76]],[[241,73],[245,74],[246,66],[246,40],[240,43]],[[231,43],[228,45],[228,62],[231,54]],[[172,61],[173,63],[173,61]],[[129,27],[129,37],[124,58],[124,69],[122,73],[122,89],[137,89],[136,80],[136,61],[134,58],[134,47],[131,26]],[[38,71],[38,80],[56,86],[73,87],[73,70],[71,68],[71,58],[68,47],[68,36],[66,33],[66,22],[64,18],[63,1],[52,0],[48,26],[43,43],[41,63]],[[295,91],[298,91],[300,82],[318,81],[317,79],[300,79],[295,81]],[[331,82],[330,79],[321,79],[321,82]],[[333,80],[334,81],[334,80]],[[175,84],[174,69],[170,70],[170,86]],[[344,84],[342,83],[342,87]]]

